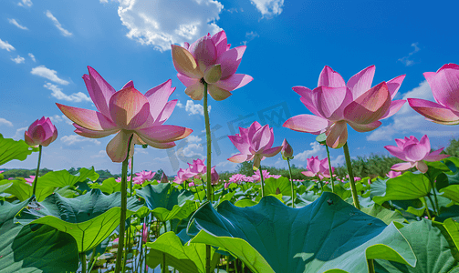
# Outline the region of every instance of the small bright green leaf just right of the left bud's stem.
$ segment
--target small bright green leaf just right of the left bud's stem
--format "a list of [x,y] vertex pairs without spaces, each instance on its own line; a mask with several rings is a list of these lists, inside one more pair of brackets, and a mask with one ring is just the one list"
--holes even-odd
[[85,181],[87,178],[95,181],[99,174],[94,171],[94,167],[88,169],[82,167],[79,170],[79,176],[71,175],[67,169],[56,172],[48,172],[43,177],[38,177],[37,187],[66,187],[72,186],[77,182]]

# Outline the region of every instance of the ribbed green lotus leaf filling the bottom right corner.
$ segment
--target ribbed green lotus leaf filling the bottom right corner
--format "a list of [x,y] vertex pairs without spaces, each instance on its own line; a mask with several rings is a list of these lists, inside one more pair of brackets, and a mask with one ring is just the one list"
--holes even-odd
[[[376,272],[381,273],[446,273],[457,266],[451,249],[437,227],[429,220],[413,222],[400,229],[403,237],[410,242],[418,259],[415,268],[393,261],[376,259]],[[458,271],[453,271],[458,272]]]

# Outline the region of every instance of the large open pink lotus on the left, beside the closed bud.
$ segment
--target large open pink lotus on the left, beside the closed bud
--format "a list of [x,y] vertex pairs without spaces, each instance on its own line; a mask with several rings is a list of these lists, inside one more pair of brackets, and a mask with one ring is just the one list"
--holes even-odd
[[134,88],[132,81],[116,91],[99,73],[88,66],[84,75],[89,96],[99,111],[56,104],[77,129],[80,136],[99,138],[118,133],[107,145],[107,154],[113,162],[130,157],[134,144],[142,141],[151,147],[174,147],[173,141],[190,135],[193,130],[183,126],[163,125],[171,116],[177,100],[167,101],[175,90],[171,80],[151,88],[145,95]]

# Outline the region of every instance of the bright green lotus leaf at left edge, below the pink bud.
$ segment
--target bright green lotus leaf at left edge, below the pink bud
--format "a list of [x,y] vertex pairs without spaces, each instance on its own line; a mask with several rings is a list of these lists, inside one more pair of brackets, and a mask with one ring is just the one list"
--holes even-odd
[[24,161],[32,152],[37,152],[37,147],[30,147],[24,140],[4,138],[0,134],[0,166],[13,159]]

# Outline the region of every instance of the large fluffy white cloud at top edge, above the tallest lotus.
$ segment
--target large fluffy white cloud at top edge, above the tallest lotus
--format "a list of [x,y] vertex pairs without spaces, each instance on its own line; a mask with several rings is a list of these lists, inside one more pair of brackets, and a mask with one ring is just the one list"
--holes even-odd
[[128,27],[127,36],[160,51],[172,44],[190,44],[221,28],[215,24],[224,6],[215,0],[120,0],[118,15]]

